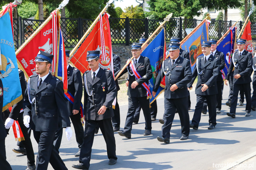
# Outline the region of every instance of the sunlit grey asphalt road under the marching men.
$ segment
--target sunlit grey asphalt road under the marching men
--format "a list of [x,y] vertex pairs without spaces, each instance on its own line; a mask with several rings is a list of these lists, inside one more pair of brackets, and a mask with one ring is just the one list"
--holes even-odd
[[[212,130],[207,129],[209,126],[209,115],[202,115],[198,130],[190,129],[188,140],[179,140],[181,137],[181,126],[179,115],[176,114],[170,131],[170,144],[160,143],[156,139],[157,136],[161,136],[162,124],[158,121],[152,122],[152,135],[142,135],[144,133],[145,121],[141,111],[139,124],[133,124],[131,139],[122,137],[115,132],[118,159],[117,163],[112,166],[108,165],[106,144],[99,131],[98,135],[95,135],[94,138],[90,169],[215,170],[231,168],[227,165],[231,165],[231,163],[239,159],[246,158],[246,156],[254,154],[256,151],[256,112],[252,111],[251,116],[245,117],[245,106],[237,106],[236,118],[228,117],[226,113],[229,112],[229,107],[225,105],[228,99],[228,93],[229,87],[225,86],[222,95],[222,110],[220,114],[217,114],[216,128]],[[191,121],[195,109],[196,95],[194,92],[190,92],[190,95],[191,110],[189,111],[189,115]],[[158,98],[157,103],[158,120],[162,118],[164,112],[163,98]],[[127,110],[128,105],[120,106],[121,129],[124,127]],[[79,158],[74,157],[74,154],[78,151],[78,147],[74,136],[74,128],[72,127],[72,129],[73,137],[71,141],[66,140],[64,132],[61,148],[59,149],[61,158],[70,170],[73,169],[71,167],[72,164],[79,163]],[[31,140],[36,157],[38,148],[33,135],[31,136]],[[12,148],[17,148],[17,146],[13,131],[10,129],[10,135],[6,138],[7,161],[11,164],[13,170],[25,170],[26,156],[12,152]],[[253,161],[251,162],[253,163]],[[256,163],[253,166],[256,167]],[[53,169],[50,164],[48,169]]]

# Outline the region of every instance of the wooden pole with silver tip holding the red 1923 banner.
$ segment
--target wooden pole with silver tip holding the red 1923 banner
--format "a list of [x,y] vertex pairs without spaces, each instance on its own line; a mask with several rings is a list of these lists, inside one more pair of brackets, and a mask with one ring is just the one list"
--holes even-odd
[[[58,12],[60,9],[65,7],[69,3],[69,0],[64,0],[61,2],[59,7],[56,9]],[[15,52],[16,56],[20,53],[20,51],[43,29],[43,27],[53,18],[52,14],[40,25],[39,28],[20,46],[20,48]]]

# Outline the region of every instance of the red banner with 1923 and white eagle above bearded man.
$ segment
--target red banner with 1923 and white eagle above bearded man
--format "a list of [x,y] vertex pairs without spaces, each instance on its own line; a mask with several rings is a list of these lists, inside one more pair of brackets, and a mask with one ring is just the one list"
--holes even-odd
[[[56,15],[59,16],[59,13],[56,13]],[[53,19],[56,22],[57,29],[55,29],[55,24],[53,24],[53,21],[52,21]],[[36,74],[36,68],[35,68],[36,62],[34,62],[34,60],[39,50],[42,50],[49,54],[55,54],[53,53],[53,47],[56,46],[55,45],[56,38],[53,38],[53,37],[56,36],[55,32],[58,31],[58,28],[59,28],[59,18],[57,17],[53,19],[49,20],[48,23],[44,23],[44,27],[42,27],[42,29],[39,30],[37,34],[33,33],[31,35],[32,39],[29,42],[27,41],[25,42],[28,44],[23,48],[20,47],[17,50],[18,54],[16,54],[16,56],[17,56],[19,67],[20,69],[23,70],[27,78],[33,74]],[[54,43],[53,43],[53,39],[54,39]],[[58,48],[55,48],[55,49],[57,50]],[[56,58],[57,56],[55,55],[52,63],[53,70],[55,70],[56,68],[56,67],[53,67],[55,65]]]

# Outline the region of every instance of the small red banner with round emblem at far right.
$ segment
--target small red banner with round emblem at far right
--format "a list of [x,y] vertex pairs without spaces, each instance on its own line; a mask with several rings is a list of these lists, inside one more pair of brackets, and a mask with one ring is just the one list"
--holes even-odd
[[244,46],[246,51],[249,51],[253,55],[253,45],[252,45],[252,34],[251,34],[251,21],[249,20],[244,28],[242,39],[247,40]]

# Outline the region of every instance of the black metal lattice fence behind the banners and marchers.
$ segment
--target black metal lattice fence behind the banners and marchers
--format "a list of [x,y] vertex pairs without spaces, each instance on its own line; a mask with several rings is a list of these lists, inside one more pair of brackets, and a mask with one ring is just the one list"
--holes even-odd
[[[43,20],[13,19],[15,48],[18,49],[31,34],[43,23]],[[61,18],[61,28],[66,48],[74,48],[94,20],[82,18]],[[185,38],[186,28],[195,28],[202,20],[171,18],[166,22],[166,41],[173,37]],[[139,38],[148,38],[163,20],[109,18],[112,44],[129,45]],[[209,38],[220,39],[235,21],[212,21],[209,25]],[[244,22],[236,24],[239,34]],[[252,39],[256,39],[256,22],[251,23]]]

